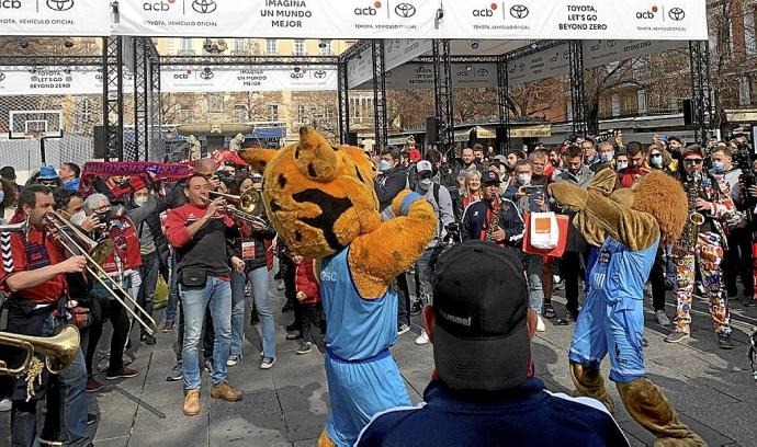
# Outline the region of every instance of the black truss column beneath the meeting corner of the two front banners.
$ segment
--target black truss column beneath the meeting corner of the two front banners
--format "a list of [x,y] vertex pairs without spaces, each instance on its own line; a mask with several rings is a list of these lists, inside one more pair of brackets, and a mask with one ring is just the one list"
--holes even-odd
[[452,113],[452,60],[450,41],[433,39],[433,104],[437,119],[437,148],[447,153],[454,144],[454,115]]

